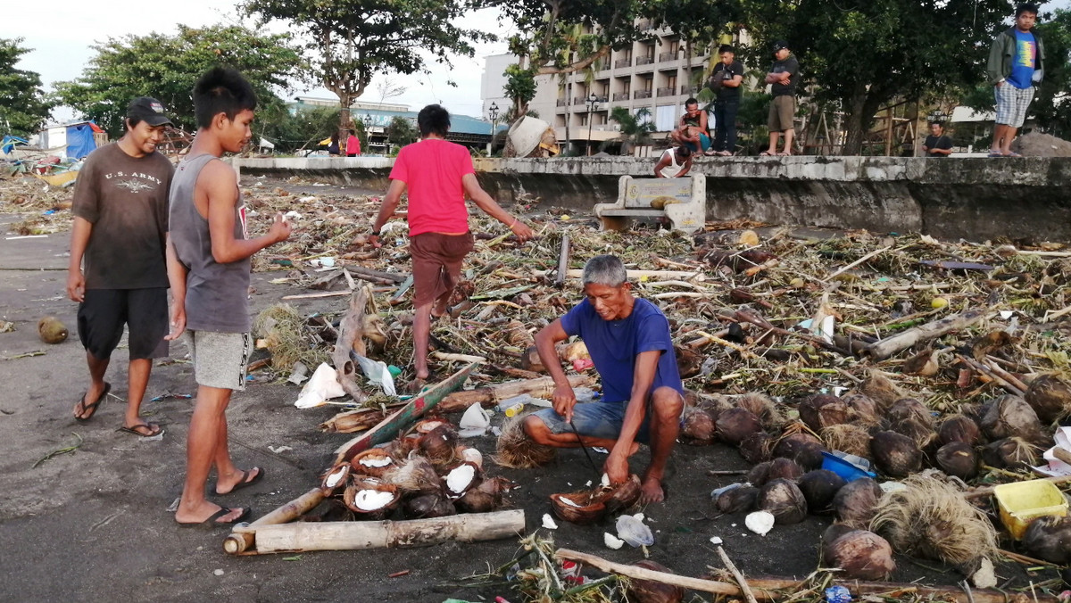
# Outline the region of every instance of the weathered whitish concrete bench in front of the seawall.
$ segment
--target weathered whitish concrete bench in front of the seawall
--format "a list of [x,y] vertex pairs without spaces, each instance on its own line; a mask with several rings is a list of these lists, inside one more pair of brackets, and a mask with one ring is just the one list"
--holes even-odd
[[603,230],[628,228],[633,217],[665,217],[669,226],[691,235],[707,222],[707,177],[633,178],[618,180],[617,201],[599,203],[595,215]]

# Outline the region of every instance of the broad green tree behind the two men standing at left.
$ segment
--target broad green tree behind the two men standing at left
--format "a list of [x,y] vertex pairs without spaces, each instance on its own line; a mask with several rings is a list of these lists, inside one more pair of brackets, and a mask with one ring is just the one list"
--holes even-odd
[[265,105],[302,73],[300,52],[288,34],[240,26],[180,25],[175,35],[110,37],[93,49],[96,56],[79,78],[56,84],[56,97],[112,136],[122,132],[126,105],[137,96],[160,100],[177,126],[196,130],[191,92],[213,66],[242,72]]

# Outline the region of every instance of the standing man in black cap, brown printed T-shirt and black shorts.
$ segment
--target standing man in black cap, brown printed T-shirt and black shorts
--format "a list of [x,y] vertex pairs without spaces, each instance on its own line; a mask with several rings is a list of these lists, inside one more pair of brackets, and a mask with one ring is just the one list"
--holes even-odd
[[[90,385],[74,406],[88,421],[108,395],[111,352],[130,331],[126,412],[120,431],[162,433],[140,418],[153,358],[167,356],[167,194],[175,168],[156,151],[171,120],[160,101],[142,96],[126,108],[126,132],[86,159],[75,182],[67,296],[78,302],[78,337]],[[85,271],[82,270],[85,260]]]

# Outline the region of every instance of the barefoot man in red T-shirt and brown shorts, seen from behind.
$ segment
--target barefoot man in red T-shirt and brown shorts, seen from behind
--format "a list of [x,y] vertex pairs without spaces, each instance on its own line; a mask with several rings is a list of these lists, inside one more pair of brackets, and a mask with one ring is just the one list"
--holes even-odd
[[[410,389],[419,392],[427,379],[427,342],[432,316],[447,313],[447,304],[461,276],[462,261],[472,251],[468,229],[468,195],[487,215],[506,224],[522,242],[532,230],[503,210],[476,179],[468,149],[446,139],[450,114],[428,105],[417,115],[421,140],[398,152],[391,169],[391,185],[372,225],[369,240],[380,246],[379,231],[394,215],[402,194],[409,193],[409,254],[412,256],[413,368]],[[434,307],[433,307],[434,304]]]

